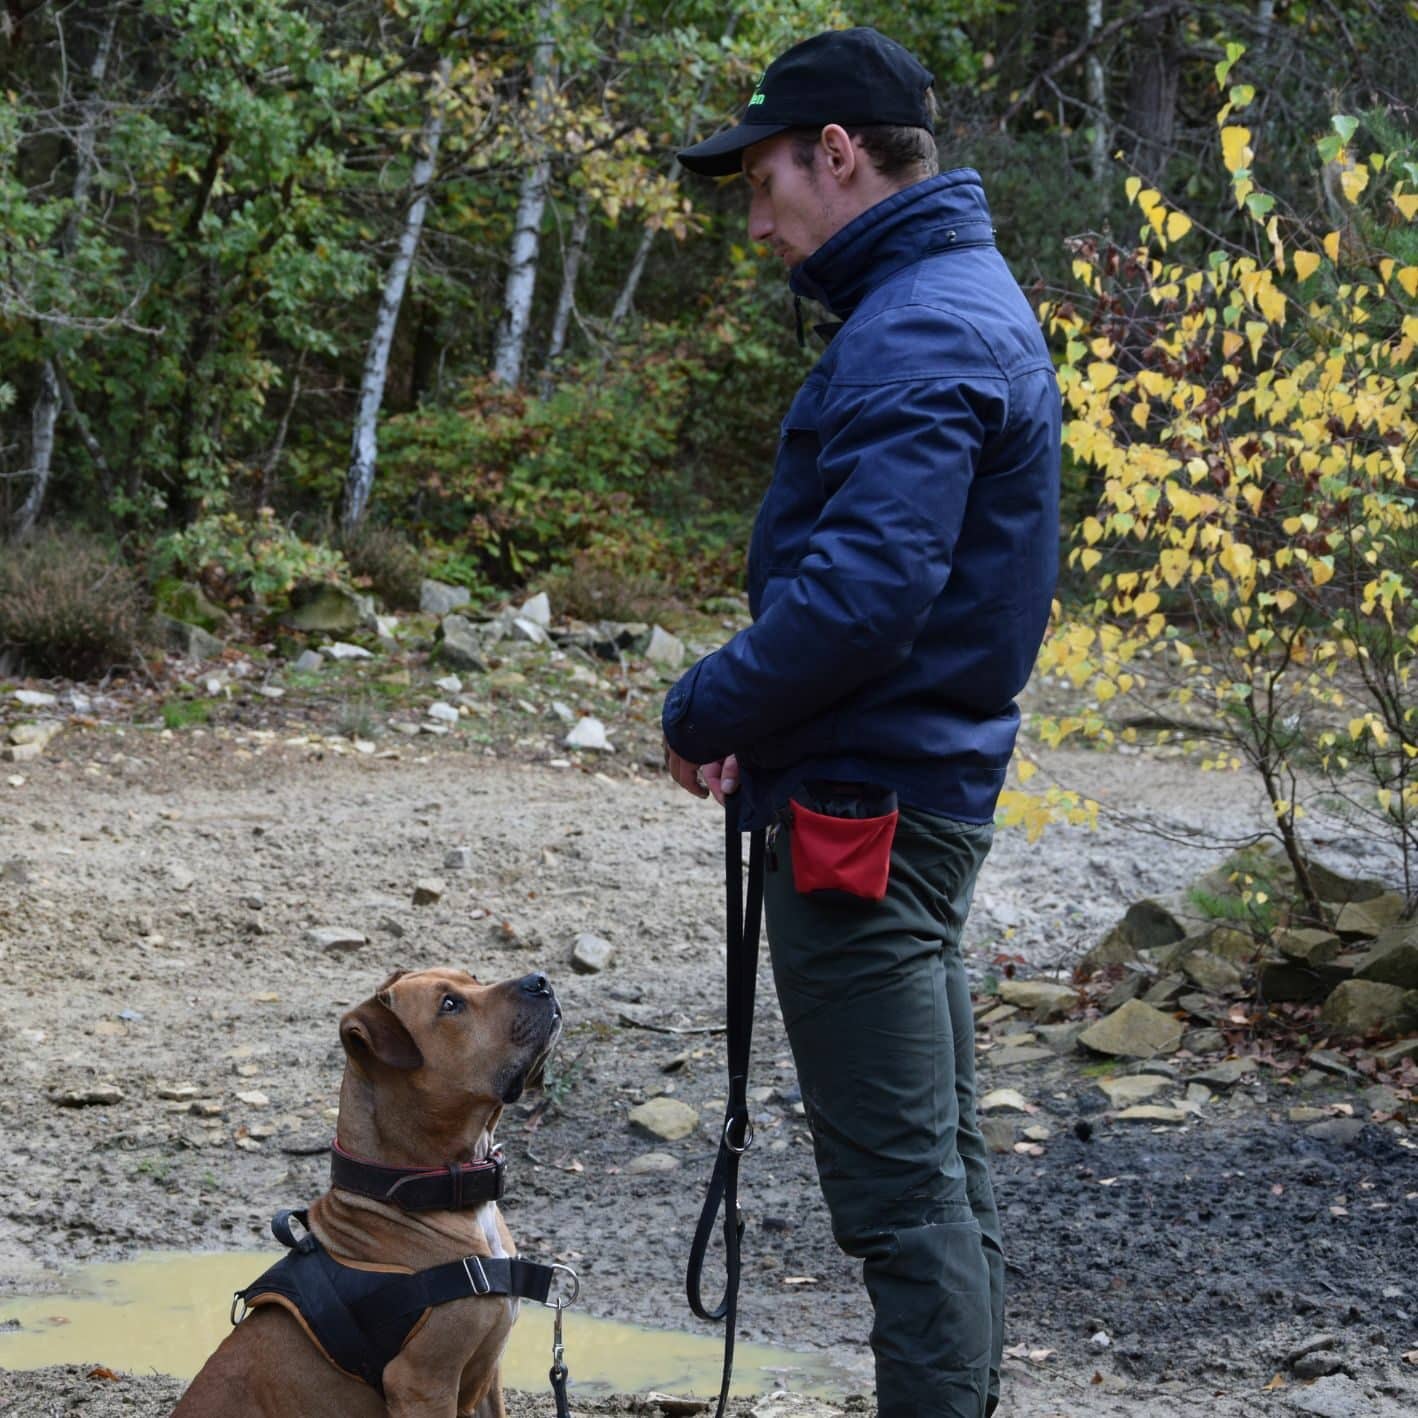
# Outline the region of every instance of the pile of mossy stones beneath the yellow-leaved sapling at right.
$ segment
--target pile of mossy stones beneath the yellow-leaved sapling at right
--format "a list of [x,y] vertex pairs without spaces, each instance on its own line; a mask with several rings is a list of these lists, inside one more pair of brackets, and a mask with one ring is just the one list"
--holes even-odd
[[1081,983],[1112,981],[1103,1018],[1081,1042],[1105,1054],[1171,1052],[1185,1017],[1202,1028],[1215,1025],[1249,997],[1317,1004],[1319,1027],[1329,1035],[1397,1039],[1384,1051],[1392,1062],[1418,1058],[1418,920],[1404,919],[1407,899],[1383,882],[1340,876],[1319,864],[1309,872],[1329,922],[1323,929],[1263,933],[1244,926],[1241,912],[1217,919],[1219,902],[1241,900],[1238,881],[1263,878],[1271,900],[1293,888],[1288,864],[1255,848],[1187,892],[1137,902],[1075,974]]

